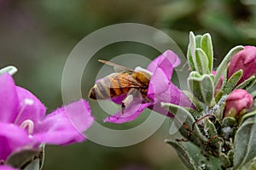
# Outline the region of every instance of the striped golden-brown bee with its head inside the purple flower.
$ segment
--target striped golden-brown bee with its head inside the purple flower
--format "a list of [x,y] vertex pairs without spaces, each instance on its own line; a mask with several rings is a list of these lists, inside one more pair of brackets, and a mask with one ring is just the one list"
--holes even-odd
[[142,97],[143,102],[148,102],[148,85],[152,74],[137,67],[131,70],[123,65],[117,65],[110,61],[99,59],[107,65],[113,66],[115,72],[103,77],[96,82],[93,88],[90,88],[90,99],[112,99],[118,96],[125,96],[122,100],[122,113],[127,105],[131,104],[133,97]]

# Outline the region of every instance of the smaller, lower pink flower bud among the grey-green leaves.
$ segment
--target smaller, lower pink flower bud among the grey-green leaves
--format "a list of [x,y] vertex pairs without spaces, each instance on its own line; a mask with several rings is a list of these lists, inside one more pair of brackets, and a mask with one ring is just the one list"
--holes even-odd
[[224,116],[241,116],[253,106],[253,96],[244,89],[236,89],[226,99]]

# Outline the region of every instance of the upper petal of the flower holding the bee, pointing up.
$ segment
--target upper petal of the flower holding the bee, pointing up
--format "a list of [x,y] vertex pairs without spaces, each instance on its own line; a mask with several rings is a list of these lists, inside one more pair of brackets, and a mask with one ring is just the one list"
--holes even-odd
[[147,70],[154,73],[157,68],[162,69],[166,77],[170,80],[172,77],[173,68],[180,64],[180,59],[177,54],[173,53],[171,50],[166,50],[164,54],[160,54],[159,57],[154,59],[149,65]]

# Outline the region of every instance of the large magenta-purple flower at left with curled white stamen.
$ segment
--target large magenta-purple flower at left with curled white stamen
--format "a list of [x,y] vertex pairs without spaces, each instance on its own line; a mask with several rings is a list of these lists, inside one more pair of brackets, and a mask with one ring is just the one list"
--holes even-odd
[[[80,99],[45,116],[45,107],[25,88],[15,86],[5,73],[0,77],[0,161],[38,144],[72,144],[85,139],[93,122],[90,107]],[[83,122],[83,123],[82,123]]]

